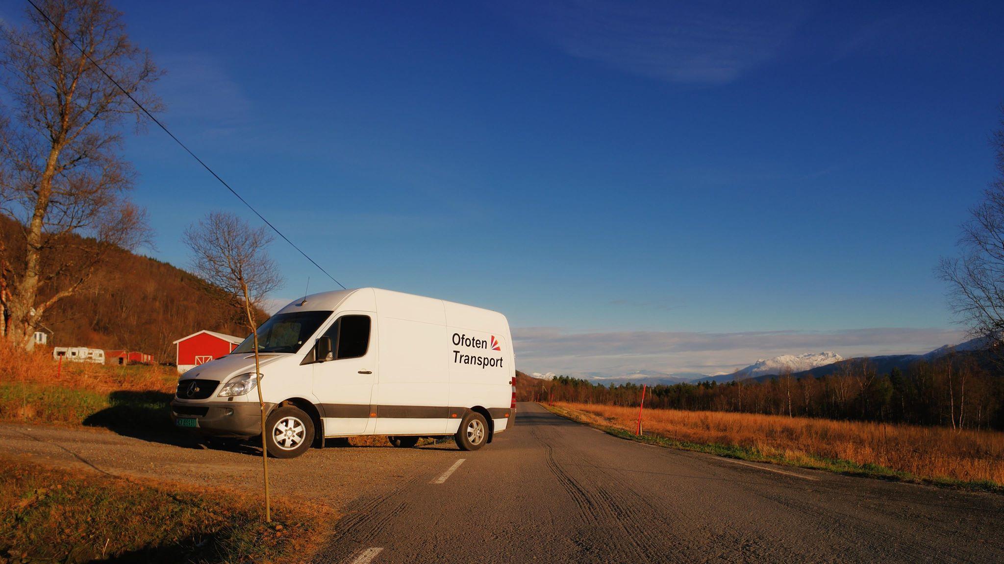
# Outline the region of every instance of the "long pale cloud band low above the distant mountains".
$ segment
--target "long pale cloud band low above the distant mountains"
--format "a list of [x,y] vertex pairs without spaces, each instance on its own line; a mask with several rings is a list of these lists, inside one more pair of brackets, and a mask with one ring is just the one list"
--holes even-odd
[[833,350],[844,357],[928,352],[965,340],[953,329],[875,327],[836,331],[614,331],[569,333],[557,327],[513,330],[517,367],[569,375],[728,372],[758,358]]

